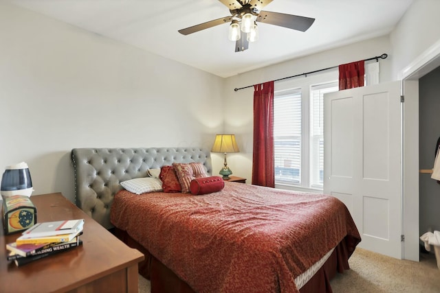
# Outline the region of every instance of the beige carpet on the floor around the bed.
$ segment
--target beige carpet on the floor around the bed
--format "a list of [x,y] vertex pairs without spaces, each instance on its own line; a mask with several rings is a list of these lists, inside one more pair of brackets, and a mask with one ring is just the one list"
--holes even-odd
[[[351,270],[331,280],[334,293],[440,292],[440,270],[433,254],[421,254],[416,262],[356,248],[349,263]],[[150,282],[139,276],[139,292],[150,291]]]

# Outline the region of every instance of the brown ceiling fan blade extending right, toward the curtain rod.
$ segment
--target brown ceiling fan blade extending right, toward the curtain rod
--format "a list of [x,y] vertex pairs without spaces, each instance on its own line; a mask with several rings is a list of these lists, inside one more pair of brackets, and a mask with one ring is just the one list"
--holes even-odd
[[261,11],[259,16],[256,17],[256,21],[305,32],[314,23],[315,19],[292,14]]

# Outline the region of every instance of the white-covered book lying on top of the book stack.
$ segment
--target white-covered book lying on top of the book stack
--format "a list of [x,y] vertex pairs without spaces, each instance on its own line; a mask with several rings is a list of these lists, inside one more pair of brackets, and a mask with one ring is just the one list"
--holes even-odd
[[78,233],[80,231],[83,231],[83,225],[84,225],[84,219],[41,222],[28,228],[28,230],[24,231],[22,234],[28,238],[30,237],[35,238],[35,237]]

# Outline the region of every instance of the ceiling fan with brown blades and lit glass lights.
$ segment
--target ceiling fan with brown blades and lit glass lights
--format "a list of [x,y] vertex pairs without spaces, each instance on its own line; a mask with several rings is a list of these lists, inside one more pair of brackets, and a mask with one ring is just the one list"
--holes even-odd
[[206,23],[186,27],[178,32],[184,35],[206,30],[223,23],[231,23],[229,39],[235,40],[235,51],[248,49],[249,42],[258,39],[256,23],[269,23],[287,27],[292,30],[305,32],[314,23],[315,19],[305,16],[284,14],[279,12],[263,11],[262,9],[273,0],[219,0],[229,8],[231,16],[214,19]]

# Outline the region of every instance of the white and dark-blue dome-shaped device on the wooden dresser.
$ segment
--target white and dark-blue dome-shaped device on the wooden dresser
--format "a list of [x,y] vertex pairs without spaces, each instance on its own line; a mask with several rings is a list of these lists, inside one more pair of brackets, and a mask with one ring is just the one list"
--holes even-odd
[[1,196],[31,196],[32,191],[28,164],[21,162],[5,168],[1,178]]

